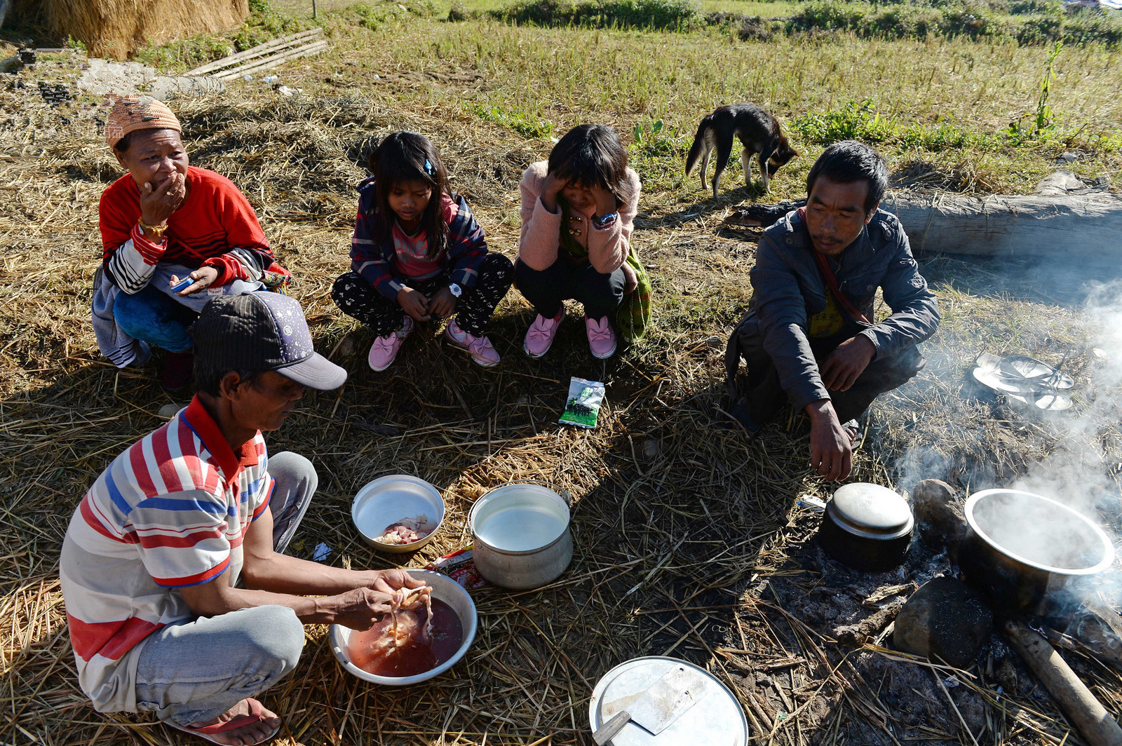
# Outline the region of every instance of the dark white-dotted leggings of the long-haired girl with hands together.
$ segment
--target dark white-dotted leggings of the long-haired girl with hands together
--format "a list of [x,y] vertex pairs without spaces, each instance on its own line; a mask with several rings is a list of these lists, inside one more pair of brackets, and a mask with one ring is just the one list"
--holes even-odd
[[[473,337],[482,337],[495,306],[511,289],[513,282],[514,265],[511,260],[502,254],[488,254],[479,265],[476,284],[465,288],[462,297],[456,302],[456,323],[460,329]],[[427,279],[405,280],[406,285],[429,297],[450,283],[447,271]],[[405,323],[405,312],[397,301],[387,298],[355,271],[339,276],[331,288],[331,300],[340,311],[358,319],[378,337],[386,337]]]

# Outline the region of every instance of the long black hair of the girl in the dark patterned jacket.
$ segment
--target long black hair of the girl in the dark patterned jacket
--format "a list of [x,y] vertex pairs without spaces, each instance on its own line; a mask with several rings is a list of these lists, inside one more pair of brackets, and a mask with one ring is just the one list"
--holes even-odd
[[421,228],[429,237],[429,254],[432,259],[448,248],[448,224],[444,222],[442,203],[444,195],[452,195],[448,184],[448,172],[436,149],[424,135],[416,132],[394,132],[387,136],[367,158],[377,190],[378,212],[374,219],[373,232],[378,241],[393,240],[396,215],[389,208],[389,192],[395,184],[424,182],[432,188],[429,206],[421,214]]

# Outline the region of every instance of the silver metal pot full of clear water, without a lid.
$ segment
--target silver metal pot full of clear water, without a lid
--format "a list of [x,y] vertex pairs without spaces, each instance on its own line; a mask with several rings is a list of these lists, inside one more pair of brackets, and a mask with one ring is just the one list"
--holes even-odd
[[468,514],[476,569],[513,590],[552,582],[572,561],[569,517],[569,501],[543,482],[496,487]]

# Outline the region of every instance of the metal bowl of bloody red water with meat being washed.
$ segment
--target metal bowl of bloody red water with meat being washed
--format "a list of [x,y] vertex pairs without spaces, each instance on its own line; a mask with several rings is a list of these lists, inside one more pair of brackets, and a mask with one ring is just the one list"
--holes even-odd
[[476,638],[478,616],[468,591],[439,572],[407,572],[432,588],[433,629],[427,638],[423,605],[415,611],[397,611],[396,629],[388,614],[362,632],[331,625],[335,660],[362,681],[386,687],[427,681],[459,663]]

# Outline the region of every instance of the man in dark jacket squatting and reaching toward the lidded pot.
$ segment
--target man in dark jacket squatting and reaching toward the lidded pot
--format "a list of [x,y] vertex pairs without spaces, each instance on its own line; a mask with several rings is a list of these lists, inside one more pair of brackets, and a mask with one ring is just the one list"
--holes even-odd
[[[849,475],[856,418],[923,367],[917,346],[939,326],[900,221],[877,209],[888,181],[867,145],[822,153],[807,176],[807,206],[760,240],[748,314],[726,354],[729,413],[754,435],[785,393],[810,416],[811,466],[827,479]],[[892,314],[873,323],[877,287]],[[737,379],[741,357],[746,379]]]

